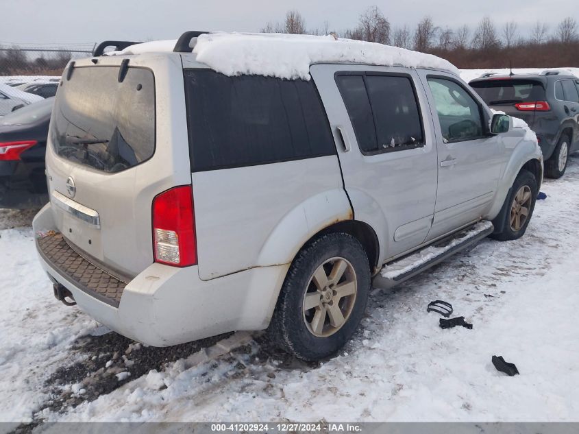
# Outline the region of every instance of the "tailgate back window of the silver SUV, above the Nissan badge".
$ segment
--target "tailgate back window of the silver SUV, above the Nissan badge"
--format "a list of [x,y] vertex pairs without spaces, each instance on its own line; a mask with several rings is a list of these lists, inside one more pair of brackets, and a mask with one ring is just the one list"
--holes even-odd
[[[66,73],[65,73],[66,74]],[[59,156],[114,173],[148,160],[155,152],[153,72],[119,67],[78,67],[64,78],[51,118]]]

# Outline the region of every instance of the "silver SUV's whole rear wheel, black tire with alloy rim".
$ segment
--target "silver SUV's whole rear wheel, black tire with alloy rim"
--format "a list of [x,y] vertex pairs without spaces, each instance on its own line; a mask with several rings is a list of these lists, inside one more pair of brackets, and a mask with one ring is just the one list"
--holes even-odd
[[269,335],[295,357],[325,359],[356,331],[369,289],[370,266],[360,242],[341,232],[322,235],[293,261]]

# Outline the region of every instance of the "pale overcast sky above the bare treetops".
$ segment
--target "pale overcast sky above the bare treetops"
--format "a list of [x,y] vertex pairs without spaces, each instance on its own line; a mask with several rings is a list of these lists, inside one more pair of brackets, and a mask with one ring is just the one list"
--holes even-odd
[[393,25],[415,25],[430,15],[436,25],[474,27],[488,14],[502,25],[517,21],[523,32],[537,20],[553,30],[576,15],[568,0],[0,0],[0,43],[94,43],[106,39],[176,39],[185,30],[256,32],[296,9],[308,28],[354,27],[360,12],[378,5]]

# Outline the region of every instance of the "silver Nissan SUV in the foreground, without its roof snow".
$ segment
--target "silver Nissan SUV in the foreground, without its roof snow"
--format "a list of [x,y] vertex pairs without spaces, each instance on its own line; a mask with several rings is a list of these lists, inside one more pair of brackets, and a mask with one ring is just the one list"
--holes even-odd
[[34,230],[65,304],[151,346],[267,328],[315,360],[352,337],[372,279],[525,232],[537,139],[456,73],[344,56],[311,80],[224,75],[195,36],[64,71]]

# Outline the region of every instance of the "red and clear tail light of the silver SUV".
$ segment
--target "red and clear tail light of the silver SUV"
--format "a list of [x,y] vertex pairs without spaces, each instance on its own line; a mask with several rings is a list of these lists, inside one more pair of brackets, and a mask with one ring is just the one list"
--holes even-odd
[[155,262],[188,267],[197,263],[193,188],[178,186],[153,199]]

